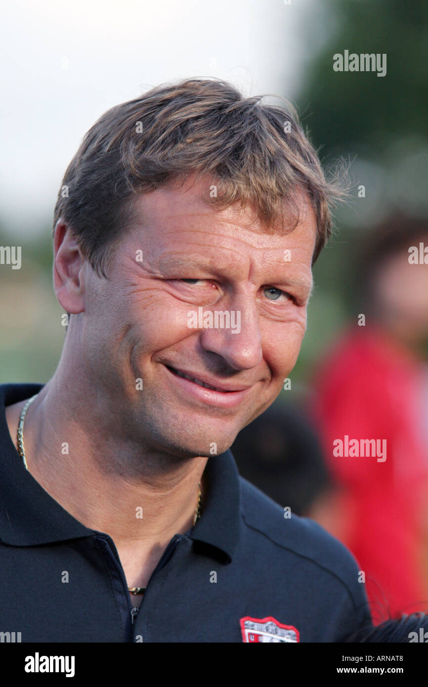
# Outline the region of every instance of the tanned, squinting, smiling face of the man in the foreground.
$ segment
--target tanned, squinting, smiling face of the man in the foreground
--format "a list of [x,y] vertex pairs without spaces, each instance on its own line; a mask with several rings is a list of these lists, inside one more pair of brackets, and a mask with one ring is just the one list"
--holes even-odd
[[269,233],[252,210],[207,205],[203,180],[189,186],[137,199],[109,281],[85,267],[78,315],[85,374],[117,427],[179,456],[222,453],[278,396],[306,329],[316,232],[303,198],[299,225]]

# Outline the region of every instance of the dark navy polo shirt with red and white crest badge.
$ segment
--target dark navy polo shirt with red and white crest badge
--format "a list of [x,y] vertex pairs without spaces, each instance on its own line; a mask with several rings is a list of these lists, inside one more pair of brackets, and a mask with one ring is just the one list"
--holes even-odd
[[41,387],[0,386],[1,641],[335,642],[370,624],[348,550],[284,517],[230,451],[208,459],[201,519],[172,538],[133,612],[111,537],[67,513],[14,447],[4,408]]

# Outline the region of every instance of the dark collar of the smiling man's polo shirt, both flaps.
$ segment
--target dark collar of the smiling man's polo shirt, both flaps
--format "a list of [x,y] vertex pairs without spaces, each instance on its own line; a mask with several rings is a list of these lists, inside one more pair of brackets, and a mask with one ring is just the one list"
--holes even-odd
[[[30,398],[43,384],[0,385],[0,539],[33,546],[93,536],[27,472],[10,437],[5,406]],[[213,455],[204,471],[201,518],[190,530],[196,548],[210,548],[232,561],[240,526],[240,482],[231,451]],[[214,548],[214,549],[213,549]]]

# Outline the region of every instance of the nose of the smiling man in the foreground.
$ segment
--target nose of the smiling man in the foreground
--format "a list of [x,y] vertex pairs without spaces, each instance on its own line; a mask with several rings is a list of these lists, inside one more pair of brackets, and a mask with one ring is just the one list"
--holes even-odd
[[234,370],[250,370],[262,360],[262,335],[256,303],[241,297],[232,309],[205,311],[201,328],[204,350],[220,355]]

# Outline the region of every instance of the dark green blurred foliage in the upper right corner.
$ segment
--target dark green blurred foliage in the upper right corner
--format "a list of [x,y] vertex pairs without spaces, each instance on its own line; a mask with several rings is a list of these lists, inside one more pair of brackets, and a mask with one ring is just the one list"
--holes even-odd
[[[297,98],[315,146],[323,146],[323,155],[370,159],[396,138],[428,140],[428,3],[327,0],[326,5],[335,28],[314,56]],[[345,49],[385,53],[387,74],[333,71],[333,55]]]

